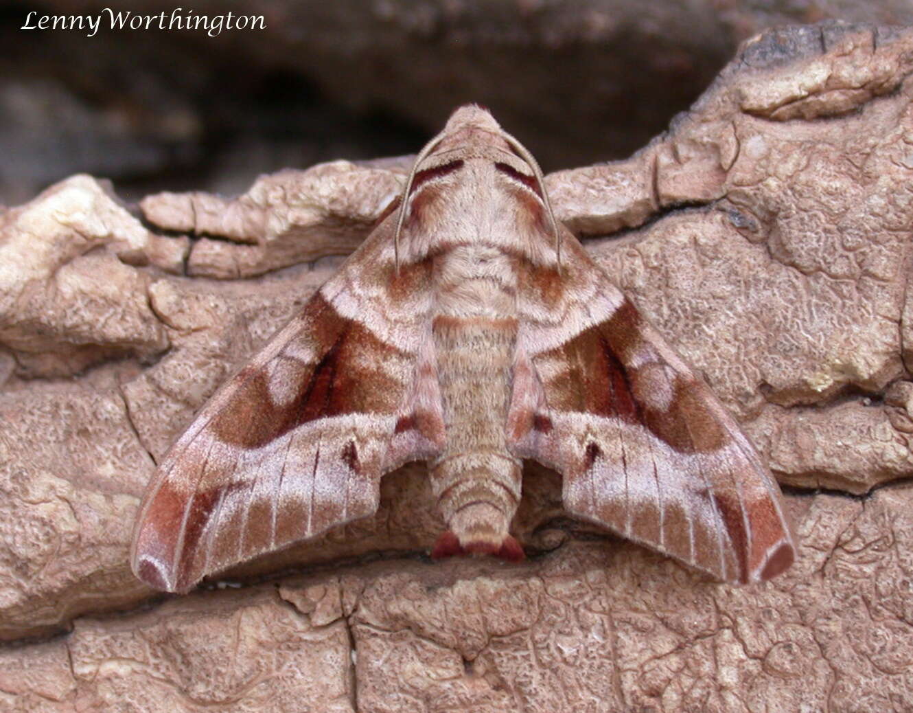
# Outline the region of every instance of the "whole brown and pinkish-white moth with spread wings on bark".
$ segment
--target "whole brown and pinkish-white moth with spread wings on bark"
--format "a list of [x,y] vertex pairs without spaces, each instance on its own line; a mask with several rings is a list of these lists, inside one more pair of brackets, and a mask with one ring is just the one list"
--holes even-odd
[[522,465],[572,515],[718,580],[794,558],[779,487],[735,420],[556,221],[535,159],[458,109],[385,218],[219,389],[143,499],[131,566],[206,574],[377,510],[425,461],[433,557],[523,558]]

